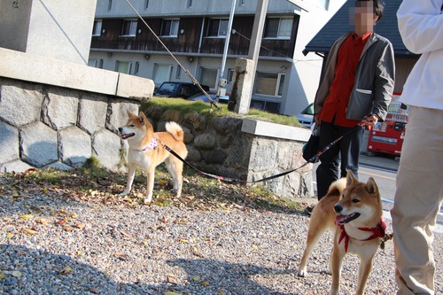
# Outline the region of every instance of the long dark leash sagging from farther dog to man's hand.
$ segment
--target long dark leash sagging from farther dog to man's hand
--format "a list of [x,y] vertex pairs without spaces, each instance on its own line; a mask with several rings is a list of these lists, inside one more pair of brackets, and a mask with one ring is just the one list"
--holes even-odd
[[178,155],[175,151],[173,151],[171,148],[169,148],[166,144],[163,144],[163,143],[161,142],[160,139],[158,139],[158,140],[159,140],[159,143],[162,144],[163,147],[164,147],[167,151],[169,151],[170,153],[172,153],[176,158],[180,159],[184,164],[188,165],[189,167],[191,167],[192,169],[196,170],[198,173],[200,173],[200,174],[202,174],[202,175],[206,175],[206,176],[209,176],[209,177],[213,177],[213,178],[218,179],[218,180],[221,180],[221,181],[223,181],[223,182],[257,183],[257,182],[266,182],[266,181],[268,181],[268,180],[271,180],[271,179],[274,179],[274,178],[277,178],[277,177],[281,177],[281,176],[284,176],[284,175],[289,175],[290,173],[292,173],[292,172],[294,172],[294,171],[297,171],[297,170],[301,169],[302,167],[307,166],[307,164],[309,164],[309,163],[315,163],[315,161],[316,161],[318,158],[320,158],[320,156],[321,156],[325,151],[328,151],[328,150],[330,149],[331,146],[333,146],[334,144],[337,144],[338,141],[340,141],[343,137],[349,135],[351,132],[354,132],[354,130],[356,130],[356,129],[358,129],[358,128],[361,128],[363,125],[364,125],[364,122],[363,122],[363,120],[361,120],[361,122],[358,123],[354,128],[352,128],[351,130],[349,130],[348,132],[346,132],[346,134],[344,134],[343,136],[339,136],[339,137],[338,137],[336,140],[334,140],[332,143],[326,145],[326,146],[323,148],[322,151],[318,151],[318,152],[315,154],[314,157],[312,157],[311,159],[307,160],[307,161],[306,161],[303,165],[301,165],[300,167],[297,167],[297,168],[295,168],[295,169],[291,169],[291,170],[288,170],[288,171],[285,171],[285,172],[279,173],[279,174],[277,174],[277,175],[271,175],[271,176],[268,176],[268,177],[262,178],[262,179],[260,179],[260,180],[249,181],[249,182],[248,182],[248,181],[241,180],[241,179],[230,178],[230,177],[224,177],[224,176],[220,176],[220,175],[212,175],[212,174],[209,174],[209,173],[203,172],[203,171],[199,170],[197,167],[192,166],[188,161],[186,161],[186,160],[183,159],[182,157],[180,157],[180,155]]

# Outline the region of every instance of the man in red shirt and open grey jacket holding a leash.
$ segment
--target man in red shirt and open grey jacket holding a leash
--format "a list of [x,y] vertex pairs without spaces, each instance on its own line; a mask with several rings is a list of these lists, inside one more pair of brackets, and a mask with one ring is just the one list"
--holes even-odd
[[[363,128],[355,126],[361,120],[366,126],[385,120],[395,64],[392,43],[373,32],[383,10],[379,0],[355,1],[350,12],[354,31],[342,35],[326,59],[314,101],[315,123],[321,130],[320,150],[347,135],[320,156],[316,170],[318,199],[326,195],[330,183],[346,177],[348,170],[358,177]],[[306,210],[311,211],[311,207]]]

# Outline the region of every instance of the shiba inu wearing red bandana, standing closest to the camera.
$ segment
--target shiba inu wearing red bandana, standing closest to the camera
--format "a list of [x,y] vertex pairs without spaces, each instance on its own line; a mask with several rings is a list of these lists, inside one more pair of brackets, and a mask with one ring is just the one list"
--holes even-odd
[[335,231],[330,256],[332,283],[330,294],[338,294],[342,260],[346,253],[360,257],[357,290],[364,294],[372,259],[380,240],[385,237],[386,223],[377,184],[372,177],[359,182],[351,171],[330,189],[312,212],[307,231],[307,245],[299,265],[299,276],[307,275],[307,258],[326,229]]

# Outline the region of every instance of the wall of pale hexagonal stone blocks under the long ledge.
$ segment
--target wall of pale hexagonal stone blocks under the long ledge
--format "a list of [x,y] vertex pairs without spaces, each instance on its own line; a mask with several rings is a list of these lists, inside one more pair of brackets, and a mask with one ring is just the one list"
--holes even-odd
[[0,171],[81,167],[91,156],[120,169],[117,128],[138,100],[0,78]]

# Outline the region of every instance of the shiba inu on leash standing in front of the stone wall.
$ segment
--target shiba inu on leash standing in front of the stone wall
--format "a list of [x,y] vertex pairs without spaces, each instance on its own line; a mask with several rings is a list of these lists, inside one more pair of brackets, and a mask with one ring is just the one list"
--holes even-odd
[[182,159],[188,155],[186,145],[183,143],[183,129],[175,122],[167,122],[167,132],[155,132],[152,124],[144,113],[138,116],[128,111],[128,122],[119,128],[120,137],[128,140],[128,182],[126,190],[120,195],[128,195],[131,190],[136,167],[141,167],[147,175],[147,188],[144,203],[151,203],[152,189],[154,187],[155,167],[165,162],[167,171],[172,175],[174,190],[177,197],[182,194],[183,162],[165,149],[166,144]]

